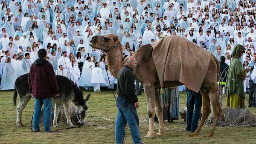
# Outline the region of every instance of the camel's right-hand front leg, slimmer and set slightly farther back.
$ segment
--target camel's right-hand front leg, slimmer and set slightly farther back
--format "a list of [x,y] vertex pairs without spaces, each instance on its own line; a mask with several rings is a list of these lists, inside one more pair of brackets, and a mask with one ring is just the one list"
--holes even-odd
[[163,108],[160,102],[160,95],[157,89],[155,89],[154,95],[155,95],[155,104],[156,104],[155,110],[156,110],[158,123],[159,123],[159,132],[157,133],[157,135],[165,135],[164,124],[163,124]]

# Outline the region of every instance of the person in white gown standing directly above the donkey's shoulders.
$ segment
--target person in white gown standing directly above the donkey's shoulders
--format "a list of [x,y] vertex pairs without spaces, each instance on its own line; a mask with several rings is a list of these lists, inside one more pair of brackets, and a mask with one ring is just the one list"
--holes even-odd
[[78,68],[78,64],[76,63],[76,57],[72,57],[70,66],[70,80],[73,81],[77,86],[79,86],[79,77],[80,70]]

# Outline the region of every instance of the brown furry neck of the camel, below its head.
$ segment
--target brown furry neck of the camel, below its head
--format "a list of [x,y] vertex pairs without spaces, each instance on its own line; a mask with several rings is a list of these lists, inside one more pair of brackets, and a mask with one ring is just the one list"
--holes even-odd
[[122,67],[124,67],[124,62],[122,60],[122,45],[119,47],[114,47],[111,51],[106,53],[108,60],[108,68],[115,78],[117,78],[117,73]]

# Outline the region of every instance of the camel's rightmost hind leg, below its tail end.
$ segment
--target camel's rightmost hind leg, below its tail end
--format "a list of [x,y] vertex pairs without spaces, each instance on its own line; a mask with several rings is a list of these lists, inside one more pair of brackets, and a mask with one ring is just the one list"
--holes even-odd
[[212,123],[212,130],[209,132],[208,137],[212,137],[214,134],[216,124],[218,122],[218,118],[221,115],[221,106],[218,101],[217,87],[214,87],[210,90],[209,96],[210,96],[210,100],[211,100],[212,107],[213,107],[214,119],[213,119],[213,123]]

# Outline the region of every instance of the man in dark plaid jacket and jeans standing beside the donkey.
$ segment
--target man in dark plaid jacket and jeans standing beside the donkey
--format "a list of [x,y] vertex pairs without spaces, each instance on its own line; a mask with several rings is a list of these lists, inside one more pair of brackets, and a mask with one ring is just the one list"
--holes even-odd
[[52,97],[59,96],[59,89],[52,65],[46,60],[47,51],[39,49],[38,59],[32,63],[29,71],[29,90],[35,98],[33,130],[39,132],[41,107],[44,104],[44,132],[51,132]]

